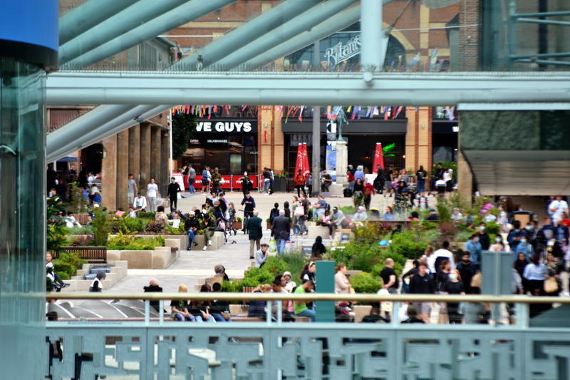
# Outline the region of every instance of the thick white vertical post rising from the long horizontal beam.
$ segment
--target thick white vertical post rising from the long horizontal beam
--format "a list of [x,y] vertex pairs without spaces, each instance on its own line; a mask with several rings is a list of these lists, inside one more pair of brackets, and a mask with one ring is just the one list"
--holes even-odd
[[361,1],[361,71],[380,71],[382,61],[378,45],[382,40],[382,1]]

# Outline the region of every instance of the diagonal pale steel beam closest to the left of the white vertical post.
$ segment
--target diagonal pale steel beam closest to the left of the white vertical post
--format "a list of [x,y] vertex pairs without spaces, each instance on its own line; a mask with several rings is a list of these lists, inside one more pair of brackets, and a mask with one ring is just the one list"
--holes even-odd
[[[330,22],[328,20],[331,16],[338,14],[338,12],[342,11],[354,2],[355,0],[324,1],[272,30],[271,33],[257,38],[255,41],[252,41],[243,48],[240,48],[229,56],[217,61],[212,67],[218,70],[231,70],[232,68],[239,66],[241,63],[244,63],[249,58],[258,56],[259,54],[264,53],[264,51],[279,45],[279,43],[283,43],[284,41],[297,36],[302,31],[309,30],[323,21]],[[378,24],[376,26],[378,26]],[[378,43],[376,43],[376,45],[378,45]],[[376,46],[376,50],[378,50],[378,46]]]

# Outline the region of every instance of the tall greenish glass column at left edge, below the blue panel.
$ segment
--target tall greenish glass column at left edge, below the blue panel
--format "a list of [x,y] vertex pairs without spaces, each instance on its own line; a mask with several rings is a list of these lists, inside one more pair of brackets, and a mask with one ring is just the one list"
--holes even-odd
[[45,346],[46,76],[11,58],[0,74],[0,337],[10,347],[0,363],[6,379],[33,379],[41,369],[10,364]]

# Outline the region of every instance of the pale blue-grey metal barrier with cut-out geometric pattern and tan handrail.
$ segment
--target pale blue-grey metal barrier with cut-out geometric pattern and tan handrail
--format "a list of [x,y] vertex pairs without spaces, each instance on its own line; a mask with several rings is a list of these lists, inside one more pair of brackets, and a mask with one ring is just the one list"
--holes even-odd
[[[567,379],[570,328],[532,327],[529,309],[570,298],[402,294],[51,293],[48,299],[143,299],[145,319],[46,322],[46,376],[63,379]],[[166,323],[170,299],[514,304],[514,324]],[[277,302],[277,305],[281,302]],[[556,309],[555,309],[556,310]],[[162,315],[162,313],[160,313]],[[525,317],[526,316],[526,317]],[[567,314],[566,314],[567,317]],[[566,318],[567,319],[567,318]]]

